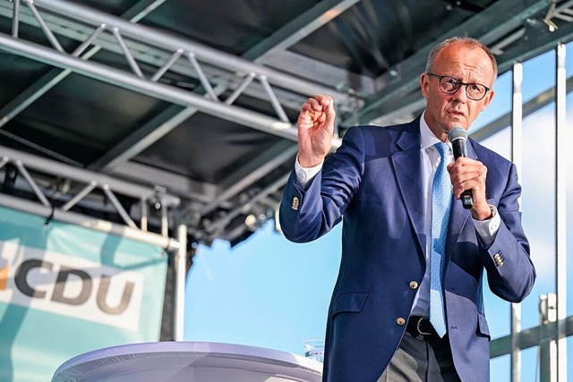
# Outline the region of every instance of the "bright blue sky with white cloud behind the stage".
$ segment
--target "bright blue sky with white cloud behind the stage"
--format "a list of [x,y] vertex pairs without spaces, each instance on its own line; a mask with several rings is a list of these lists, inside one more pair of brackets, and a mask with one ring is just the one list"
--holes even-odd
[[[524,102],[554,86],[553,52],[524,63]],[[573,45],[567,49],[568,76],[573,72]],[[511,75],[495,85],[492,105],[483,112],[470,132],[511,107]],[[522,304],[523,328],[539,323],[539,295],[552,293],[554,281],[554,106],[546,106],[524,121],[523,224],[530,240],[538,278],[534,291]],[[568,97],[568,126],[573,126],[573,97]],[[509,157],[509,129],[483,142]],[[569,156],[573,165],[573,155]],[[573,166],[568,166],[573,168]],[[572,170],[573,171],[573,170]],[[569,192],[573,174],[567,174]],[[570,198],[568,198],[571,200]],[[568,221],[573,221],[569,203]],[[570,229],[568,229],[570,232]],[[568,243],[569,269],[573,267]],[[330,293],[340,260],[340,226],[321,239],[295,244],[286,241],[268,222],[247,241],[233,249],[216,241],[200,246],[187,279],[184,339],[227,344],[247,344],[283,352],[303,354],[305,338],[323,337]],[[570,273],[570,272],[569,272]],[[492,338],[509,334],[509,303],[489,290],[484,293]],[[568,284],[568,316],[573,310],[573,290]],[[573,360],[569,340],[569,360]],[[537,351],[523,352],[522,381],[535,381]],[[569,362],[573,376],[573,361]],[[509,357],[492,361],[492,380],[509,381]]]

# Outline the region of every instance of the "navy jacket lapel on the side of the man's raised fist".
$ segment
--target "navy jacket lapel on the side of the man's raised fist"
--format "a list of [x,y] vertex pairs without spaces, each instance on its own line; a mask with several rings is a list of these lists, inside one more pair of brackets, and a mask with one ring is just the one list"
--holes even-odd
[[415,119],[397,140],[398,151],[391,154],[390,163],[398,181],[410,222],[423,254],[425,248],[424,205],[422,186],[422,154],[420,151],[420,122]]

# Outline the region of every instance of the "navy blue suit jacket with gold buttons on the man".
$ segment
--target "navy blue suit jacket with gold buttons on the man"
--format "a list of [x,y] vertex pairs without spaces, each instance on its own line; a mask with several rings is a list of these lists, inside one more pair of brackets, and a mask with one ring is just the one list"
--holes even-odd
[[[484,248],[470,212],[452,201],[444,293],[458,375],[463,381],[486,381],[490,334],[483,270],[493,293],[517,302],[531,291],[535,268],[521,226],[515,166],[474,140],[468,140],[468,157],[487,166],[486,197],[498,208],[501,225]],[[419,118],[349,129],[306,191],[291,174],[279,217],[293,242],[311,242],[343,221],[323,379],[375,381],[404,335],[400,318],[409,318],[426,267]]]

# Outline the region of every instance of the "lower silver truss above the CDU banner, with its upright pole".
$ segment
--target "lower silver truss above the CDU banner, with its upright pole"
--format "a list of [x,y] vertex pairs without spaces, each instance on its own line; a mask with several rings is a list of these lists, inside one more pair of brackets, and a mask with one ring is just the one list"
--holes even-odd
[[[167,194],[163,189],[141,187],[135,183],[124,182],[104,174],[92,173],[43,157],[24,154],[13,149],[0,147],[0,152],[2,152],[3,155],[0,158],[0,171],[4,171],[3,188],[10,191],[9,189],[17,182],[16,178],[21,175],[23,183],[25,184],[23,186],[19,185],[17,187],[18,190],[21,191],[27,186],[38,200],[38,202],[34,202],[9,194],[3,194],[2,198],[0,198],[0,205],[8,208],[17,208],[38,216],[46,216],[46,225],[49,225],[52,219],[56,219],[105,233],[114,233],[120,237],[140,242],[148,242],[174,252],[175,303],[172,318],[172,325],[174,327],[173,339],[182,341],[184,339],[184,291],[187,273],[188,231],[185,225],[177,225],[176,229],[172,229],[171,232],[169,232],[170,219],[168,216],[170,209],[179,206],[180,199]],[[11,170],[10,166],[13,166],[15,171]],[[38,179],[46,175],[55,176],[60,187],[57,187],[55,184],[52,184],[51,187],[47,187],[46,184],[38,184]],[[74,188],[79,186],[79,191],[75,194],[70,192],[72,183],[76,186]],[[60,188],[65,190],[60,191]],[[51,194],[48,194],[49,190],[52,190]],[[109,200],[111,208],[121,217],[124,225],[110,223],[73,212],[75,206],[94,204],[89,199],[96,191],[100,191],[104,198]],[[133,221],[133,212],[124,208],[118,199],[119,196],[139,200],[139,225],[136,225]],[[98,199],[98,197],[96,199]],[[58,205],[56,206],[53,201],[57,202]],[[101,201],[96,201],[95,205],[96,208],[101,209]],[[150,205],[160,210],[159,233],[150,232],[148,230]],[[175,238],[173,238],[173,236],[175,236]]]

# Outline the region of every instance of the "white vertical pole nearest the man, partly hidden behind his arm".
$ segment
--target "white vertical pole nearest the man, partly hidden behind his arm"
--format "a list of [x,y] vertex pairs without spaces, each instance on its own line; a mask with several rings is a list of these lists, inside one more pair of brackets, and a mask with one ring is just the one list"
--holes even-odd
[[[511,112],[511,161],[516,165],[517,178],[521,179],[523,152],[523,64],[513,64],[513,107]],[[519,200],[521,206],[521,200]],[[520,207],[521,208],[521,207]],[[518,344],[521,332],[521,304],[511,304],[511,381],[521,381],[521,350]]]

